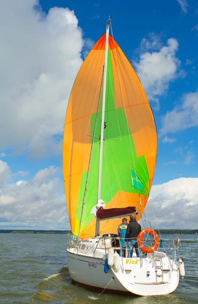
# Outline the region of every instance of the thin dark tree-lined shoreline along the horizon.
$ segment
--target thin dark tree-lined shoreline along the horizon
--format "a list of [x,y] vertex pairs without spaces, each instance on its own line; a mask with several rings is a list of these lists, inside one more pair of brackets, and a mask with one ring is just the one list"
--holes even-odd
[[[158,231],[157,229],[155,229]],[[70,230],[0,229],[0,233],[13,234],[68,234]],[[160,229],[161,234],[198,234],[198,229]]]

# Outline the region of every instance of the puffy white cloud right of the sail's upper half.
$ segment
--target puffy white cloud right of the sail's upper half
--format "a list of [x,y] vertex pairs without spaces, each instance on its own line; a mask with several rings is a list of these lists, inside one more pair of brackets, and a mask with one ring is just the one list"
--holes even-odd
[[[143,40],[143,48],[157,49],[158,40]],[[159,51],[144,52],[140,55],[138,63],[133,63],[139,79],[149,99],[155,100],[158,105],[158,97],[168,88],[169,83],[175,80],[180,73],[180,60],[176,57],[178,42],[174,38],[167,41],[167,46],[161,47]]]

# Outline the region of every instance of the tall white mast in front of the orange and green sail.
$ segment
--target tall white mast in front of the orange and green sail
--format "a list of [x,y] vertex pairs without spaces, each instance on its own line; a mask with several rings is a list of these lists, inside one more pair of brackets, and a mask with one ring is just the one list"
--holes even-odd
[[[104,83],[103,83],[103,100],[102,100],[102,117],[101,117],[101,138],[100,138],[100,158],[99,158],[99,171],[98,171],[98,188],[97,188],[97,201],[101,199],[101,181],[102,181],[102,165],[103,165],[103,140],[104,140],[104,122],[105,122],[105,99],[106,99],[106,85],[107,85],[107,58],[109,46],[109,25],[111,16],[107,22],[106,27],[106,44],[105,44],[105,63],[104,63]],[[96,218],[95,236],[98,236],[100,229],[100,221]]]

